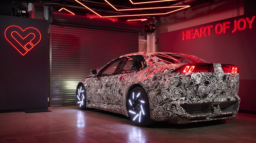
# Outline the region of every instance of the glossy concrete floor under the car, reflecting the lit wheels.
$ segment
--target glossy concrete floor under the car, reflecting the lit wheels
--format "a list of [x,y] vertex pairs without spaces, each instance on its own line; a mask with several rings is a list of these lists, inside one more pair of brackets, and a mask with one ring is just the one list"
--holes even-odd
[[0,142],[10,143],[173,143],[256,142],[256,115],[190,124],[158,122],[138,127],[127,117],[78,106],[49,107],[52,112],[0,113]]

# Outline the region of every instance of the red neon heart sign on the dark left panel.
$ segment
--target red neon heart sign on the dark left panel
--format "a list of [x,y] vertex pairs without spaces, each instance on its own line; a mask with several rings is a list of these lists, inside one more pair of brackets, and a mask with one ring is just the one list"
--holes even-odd
[[41,41],[41,33],[34,27],[22,30],[19,26],[12,25],[6,28],[5,38],[24,56]]

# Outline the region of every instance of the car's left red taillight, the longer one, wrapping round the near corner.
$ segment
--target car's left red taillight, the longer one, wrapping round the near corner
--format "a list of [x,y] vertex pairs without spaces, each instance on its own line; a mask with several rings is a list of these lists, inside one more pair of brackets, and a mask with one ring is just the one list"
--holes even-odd
[[213,64],[186,64],[173,72],[214,72]]

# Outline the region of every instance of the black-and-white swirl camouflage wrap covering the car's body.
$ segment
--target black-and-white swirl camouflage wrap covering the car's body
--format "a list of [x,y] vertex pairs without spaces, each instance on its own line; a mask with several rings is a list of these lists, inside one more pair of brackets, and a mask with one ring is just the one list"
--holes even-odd
[[142,71],[81,80],[78,85],[85,87],[87,107],[129,116],[127,96],[140,86],[153,120],[182,124],[236,117],[239,73],[224,73],[221,64],[213,64],[214,72],[173,72],[184,64],[165,64],[152,54],[120,56],[142,55],[147,64]]

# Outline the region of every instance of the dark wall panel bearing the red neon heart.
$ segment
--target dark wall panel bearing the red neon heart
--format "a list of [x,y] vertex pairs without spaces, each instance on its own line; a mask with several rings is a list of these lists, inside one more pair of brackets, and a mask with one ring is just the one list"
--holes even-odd
[[0,110],[47,110],[48,22],[4,15],[0,19]]

